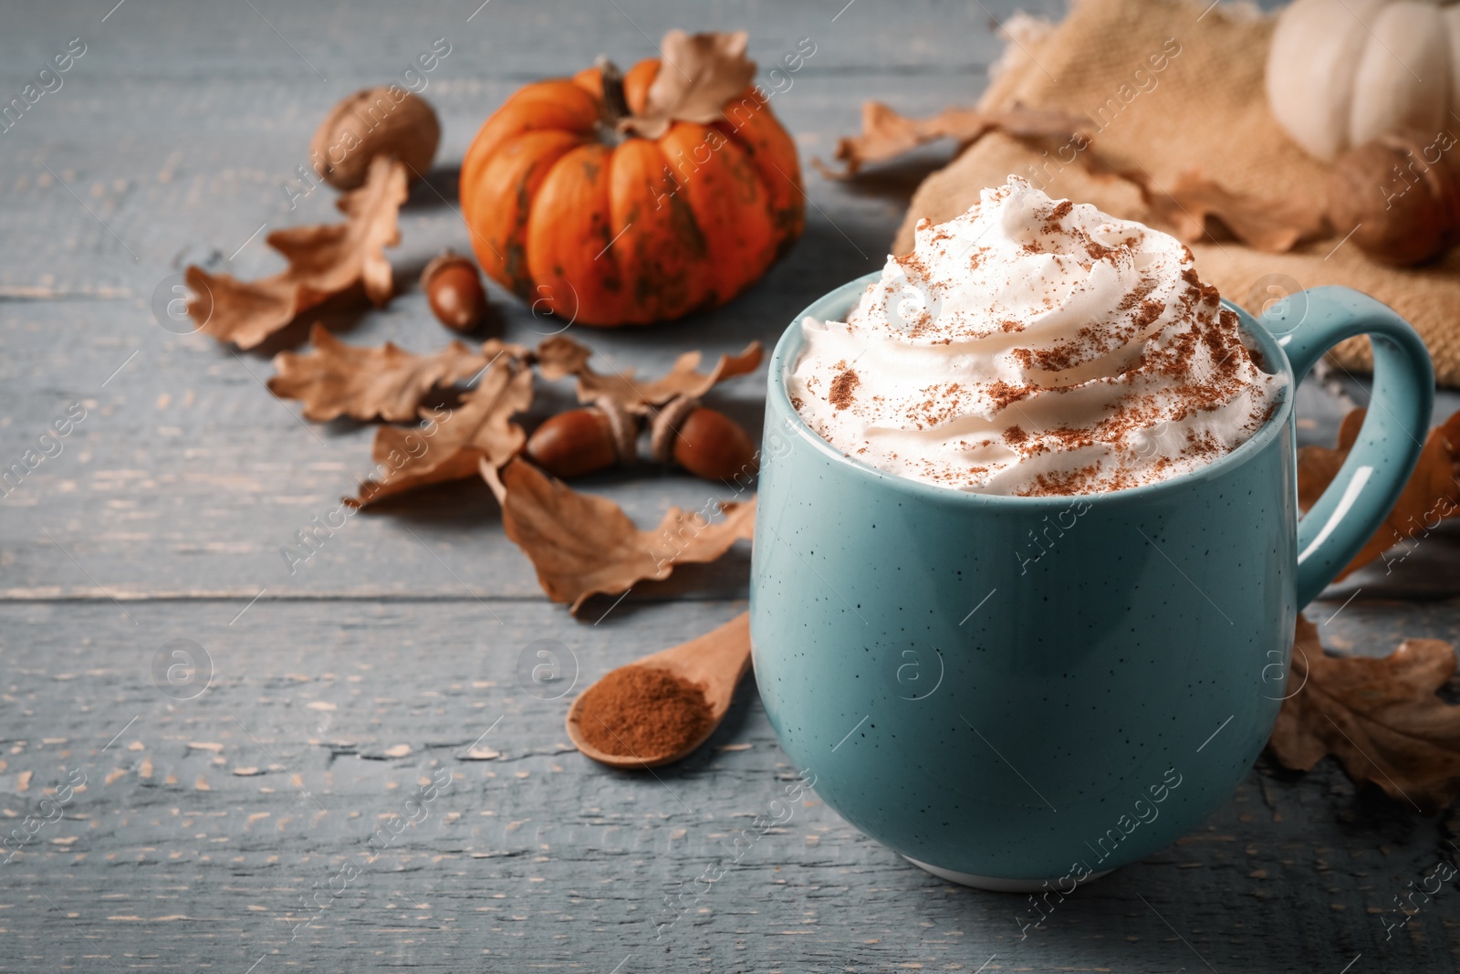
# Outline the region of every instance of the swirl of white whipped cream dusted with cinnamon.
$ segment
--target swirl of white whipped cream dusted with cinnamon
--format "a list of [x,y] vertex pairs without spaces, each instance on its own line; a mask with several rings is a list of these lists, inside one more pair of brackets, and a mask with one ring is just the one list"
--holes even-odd
[[787,388],[812,429],[888,473],[983,494],[1194,470],[1251,437],[1285,381],[1178,239],[1018,177],[921,221],[847,321],[802,331]]

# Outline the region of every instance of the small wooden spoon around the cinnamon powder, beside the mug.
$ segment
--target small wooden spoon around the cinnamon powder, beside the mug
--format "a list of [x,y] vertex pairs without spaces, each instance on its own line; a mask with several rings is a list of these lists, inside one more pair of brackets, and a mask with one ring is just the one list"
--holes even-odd
[[[705,694],[705,702],[710,704],[710,724],[705,727],[705,733],[670,753],[632,758],[629,755],[599,751],[584,740],[583,732],[578,727],[578,720],[583,716],[583,698],[588,689],[593,689],[590,686],[583,694],[578,694],[578,698],[572,701],[572,707],[568,708],[568,737],[585,756],[613,768],[657,768],[661,764],[679,761],[705,743],[710,735],[715,732],[715,727],[724,720],[726,711],[730,710],[730,698],[734,695],[734,688],[740,683],[745,672],[750,669],[750,613],[742,612],[718,629],[711,629],[696,640],[680,643],[653,656],[645,656],[628,666],[654,666],[669,670],[691,683],[696,683]],[[620,666],[619,670],[622,669],[626,667]],[[616,673],[618,670],[613,672]]]

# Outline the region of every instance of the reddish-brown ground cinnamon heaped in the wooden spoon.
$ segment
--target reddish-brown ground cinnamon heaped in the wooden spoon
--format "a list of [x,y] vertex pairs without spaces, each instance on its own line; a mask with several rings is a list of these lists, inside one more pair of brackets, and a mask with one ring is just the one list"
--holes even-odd
[[583,694],[578,732],[604,753],[658,758],[683,751],[710,726],[704,692],[654,666],[623,666]]

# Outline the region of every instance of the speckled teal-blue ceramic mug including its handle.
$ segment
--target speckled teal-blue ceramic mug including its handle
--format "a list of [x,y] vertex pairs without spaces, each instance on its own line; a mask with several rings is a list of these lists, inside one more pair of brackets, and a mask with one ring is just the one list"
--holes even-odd
[[[1251,440],[1126,491],[965,494],[842,456],[787,397],[802,318],[845,320],[875,279],[806,308],[771,358],[750,578],[761,698],[816,793],[867,835],[955,882],[1073,889],[1190,831],[1251,768],[1298,609],[1419,457],[1429,356],[1348,288],[1260,321],[1223,302],[1288,378]],[[1355,334],[1372,342],[1374,407],[1299,518],[1294,390]]]

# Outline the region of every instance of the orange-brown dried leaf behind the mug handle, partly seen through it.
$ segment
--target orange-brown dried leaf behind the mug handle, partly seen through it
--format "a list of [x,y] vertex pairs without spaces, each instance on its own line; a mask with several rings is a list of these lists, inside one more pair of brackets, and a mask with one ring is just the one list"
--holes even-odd
[[[1353,409],[1339,426],[1339,445],[1298,450],[1298,507],[1307,511],[1337,476],[1339,467],[1359,437],[1364,410]],[[1460,413],[1450,416],[1425,437],[1419,463],[1409,476],[1388,517],[1353,561],[1339,574],[1362,568],[1399,542],[1432,532],[1441,520],[1460,513]]]

